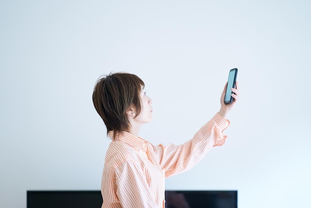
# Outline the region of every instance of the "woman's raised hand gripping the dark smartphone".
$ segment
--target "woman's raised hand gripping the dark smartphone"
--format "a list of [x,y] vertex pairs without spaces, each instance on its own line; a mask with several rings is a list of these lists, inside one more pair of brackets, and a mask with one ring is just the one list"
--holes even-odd
[[231,111],[231,109],[233,108],[233,105],[238,101],[238,96],[239,96],[239,92],[238,92],[238,82],[235,82],[235,88],[231,88],[232,92],[235,94],[231,94],[231,97],[233,97],[233,102],[231,104],[225,104],[225,94],[226,94],[226,89],[227,89],[227,85],[228,82],[225,85],[224,91],[222,93],[222,96],[220,98],[220,110],[219,113],[224,117],[227,118],[229,112]]

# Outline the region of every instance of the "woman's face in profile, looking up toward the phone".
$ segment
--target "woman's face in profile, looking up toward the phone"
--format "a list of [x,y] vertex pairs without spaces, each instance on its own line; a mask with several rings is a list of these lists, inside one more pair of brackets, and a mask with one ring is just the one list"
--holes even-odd
[[152,121],[153,118],[153,110],[151,106],[152,99],[146,95],[146,91],[144,91],[144,89],[142,89],[140,96],[142,101],[142,109],[141,113],[134,120],[138,123],[148,123]]

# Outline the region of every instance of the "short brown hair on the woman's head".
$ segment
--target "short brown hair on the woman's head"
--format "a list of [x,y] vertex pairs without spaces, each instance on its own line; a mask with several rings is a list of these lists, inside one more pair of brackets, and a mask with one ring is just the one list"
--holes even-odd
[[93,92],[93,104],[107,127],[107,135],[113,130],[116,133],[130,128],[127,111],[134,105],[136,116],[142,104],[140,93],[145,83],[136,75],[129,73],[110,73],[98,78]]

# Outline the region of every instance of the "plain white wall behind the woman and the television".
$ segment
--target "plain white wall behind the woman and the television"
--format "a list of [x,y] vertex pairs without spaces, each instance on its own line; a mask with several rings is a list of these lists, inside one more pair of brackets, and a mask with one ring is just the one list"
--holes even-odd
[[99,190],[109,144],[96,79],[137,74],[154,144],[190,139],[240,100],[223,147],[166,189],[238,190],[239,208],[307,208],[311,186],[311,1],[1,1],[0,208],[26,190]]

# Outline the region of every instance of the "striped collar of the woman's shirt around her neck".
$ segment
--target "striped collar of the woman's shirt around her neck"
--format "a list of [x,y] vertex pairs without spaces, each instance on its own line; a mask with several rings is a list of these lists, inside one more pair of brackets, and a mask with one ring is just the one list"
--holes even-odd
[[143,139],[140,136],[134,136],[133,134],[122,131],[122,133],[117,133],[115,139],[113,139],[113,131],[109,131],[109,137],[114,140],[120,140],[124,143],[129,144],[130,146],[140,149],[146,147],[146,145],[149,143],[147,140]]

